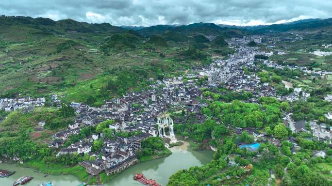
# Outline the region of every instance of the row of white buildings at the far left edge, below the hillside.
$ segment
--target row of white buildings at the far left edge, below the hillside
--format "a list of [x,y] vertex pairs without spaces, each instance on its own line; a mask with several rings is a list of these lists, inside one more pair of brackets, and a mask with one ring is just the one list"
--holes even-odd
[[28,108],[31,106],[44,106],[45,97],[19,97],[19,98],[0,98],[0,109],[14,111],[17,109]]

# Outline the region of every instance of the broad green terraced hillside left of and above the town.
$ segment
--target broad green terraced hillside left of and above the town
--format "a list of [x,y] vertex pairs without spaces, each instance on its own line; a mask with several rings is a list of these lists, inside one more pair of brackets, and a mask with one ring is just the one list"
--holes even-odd
[[[100,105],[128,90],[146,88],[148,78],[208,63],[207,53],[213,53],[205,49],[208,43],[192,41],[195,32],[163,31],[148,39],[141,30],[0,16],[0,97],[57,93],[65,103]],[[183,52],[188,39],[193,47]]]

